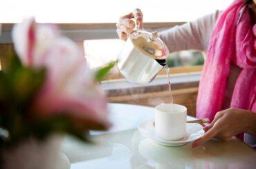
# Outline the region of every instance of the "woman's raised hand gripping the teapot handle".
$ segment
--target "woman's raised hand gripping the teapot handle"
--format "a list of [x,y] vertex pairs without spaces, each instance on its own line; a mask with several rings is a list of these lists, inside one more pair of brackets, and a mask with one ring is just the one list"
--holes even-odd
[[134,32],[135,23],[131,19],[134,18],[138,21],[138,26],[140,29],[143,28],[143,13],[140,9],[134,10],[127,15],[120,17],[118,23],[116,23],[116,32],[118,33],[118,37],[122,40],[127,40],[129,33]]

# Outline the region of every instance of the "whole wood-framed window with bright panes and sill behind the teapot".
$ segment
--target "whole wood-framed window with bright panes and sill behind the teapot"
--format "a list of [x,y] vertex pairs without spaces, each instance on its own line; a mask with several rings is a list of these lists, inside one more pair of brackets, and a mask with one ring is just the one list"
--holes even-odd
[[[57,23],[63,34],[84,47],[91,68],[97,68],[118,57],[124,42],[118,39],[116,22],[120,16],[135,8],[143,11],[146,30],[159,31],[222,10],[232,1],[1,0],[0,23],[4,24],[0,45],[11,43],[10,30],[13,23],[22,21],[24,17],[35,16],[39,23]],[[187,106],[188,112],[194,112],[203,54],[199,51],[176,52],[168,57],[167,63],[173,73],[171,81],[172,90],[175,90],[174,102]],[[169,99],[166,72],[163,70],[158,74],[152,83],[139,86],[127,83],[118,70],[113,69],[109,77],[102,81],[101,87],[109,91],[111,102],[155,106]]]

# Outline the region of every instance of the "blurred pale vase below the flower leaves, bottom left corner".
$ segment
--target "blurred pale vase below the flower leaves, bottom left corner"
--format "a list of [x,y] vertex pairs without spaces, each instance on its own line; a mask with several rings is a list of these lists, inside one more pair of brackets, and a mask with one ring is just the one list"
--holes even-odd
[[3,169],[69,169],[69,161],[61,152],[64,137],[52,135],[44,141],[27,139],[1,152]]

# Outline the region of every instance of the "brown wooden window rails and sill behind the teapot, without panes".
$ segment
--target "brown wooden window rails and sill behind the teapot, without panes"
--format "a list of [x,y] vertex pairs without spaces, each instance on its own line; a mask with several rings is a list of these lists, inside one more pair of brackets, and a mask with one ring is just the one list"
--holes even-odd
[[[181,24],[183,23],[145,23],[144,27],[149,31],[161,31]],[[11,39],[13,25],[13,23],[3,23],[2,26],[0,59],[5,63],[8,62],[8,59],[2,56],[6,56],[6,52],[10,54],[14,51]],[[118,39],[116,23],[57,23],[56,25],[60,28],[62,34],[80,46],[82,46],[84,40]],[[4,64],[2,68],[4,68]],[[195,115],[195,101],[201,78],[201,70],[202,66],[190,66],[171,68],[170,71],[172,92],[175,97],[174,101],[185,105],[188,108],[188,115],[192,116]],[[165,70],[161,70],[151,83],[138,85],[127,82],[119,72],[109,73],[101,81],[100,88],[107,91],[110,102],[156,106],[156,104],[168,101],[169,99],[166,76]],[[163,100],[159,102],[158,99],[160,98]]]

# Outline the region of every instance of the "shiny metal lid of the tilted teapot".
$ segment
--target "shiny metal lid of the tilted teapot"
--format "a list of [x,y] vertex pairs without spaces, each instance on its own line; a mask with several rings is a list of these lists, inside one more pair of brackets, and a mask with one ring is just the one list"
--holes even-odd
[[[134,21],[136,23],[136,21]],[[137,50],[154,59],[166,59],[169,55],[169,50],[165,43],[158,37],[158,32],[147,32],[138,30],[137,24],[134,32],[129,38]]]

